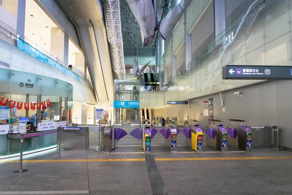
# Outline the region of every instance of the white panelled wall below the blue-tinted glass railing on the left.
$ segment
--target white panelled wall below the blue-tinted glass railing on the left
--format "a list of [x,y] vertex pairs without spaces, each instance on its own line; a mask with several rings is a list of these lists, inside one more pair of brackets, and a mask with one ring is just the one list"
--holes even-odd
[[[77,81],[3,40],[0,40],[0,54],[0,61],[10,64],[10,69],[68,82],[73,85],[74,101],[96,104],[92,85],[85,80]],[[0,65],[0,68],[7,67]]]

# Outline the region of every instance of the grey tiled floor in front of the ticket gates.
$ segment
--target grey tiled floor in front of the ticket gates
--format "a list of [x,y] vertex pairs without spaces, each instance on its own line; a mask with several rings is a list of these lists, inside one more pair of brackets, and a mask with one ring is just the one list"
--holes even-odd
[[[17,162],[0,163],[0,195],[292,194],[292,153],[287,151],[164,153],[152,155],[151,162],[144,154],[107,155],[93,150],[61,151],[67,162],[56,162],[55,156],[57,152],[25,158],[32,161],[23,163],[29,171],[22,174],[12,173],[19,167]],[[163,188],[166,191],[154,192]]]

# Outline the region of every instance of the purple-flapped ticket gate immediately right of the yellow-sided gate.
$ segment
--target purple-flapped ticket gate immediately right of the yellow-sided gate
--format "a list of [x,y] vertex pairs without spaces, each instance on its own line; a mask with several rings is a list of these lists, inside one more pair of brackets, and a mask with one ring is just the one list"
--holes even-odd
[[205,130],[206,146],[208,149],[217,150],[219,152],[227,152],[227,131],[222,124],[223,120],[209,119],[209,121],[217,122],[217,125],[208,124]]

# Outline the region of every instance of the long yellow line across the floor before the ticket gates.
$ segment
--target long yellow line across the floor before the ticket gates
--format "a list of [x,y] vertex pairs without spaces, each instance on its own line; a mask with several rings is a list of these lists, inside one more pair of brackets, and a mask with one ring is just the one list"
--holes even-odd
[[[262,157],[199,157],[199,158],[155,158],[156,161],[188,161],[188,160],[274,160],[292,159],[292,156],[262,156]],[[41,162],[125,162],[145,161],[145,158],[106,158],[106,159],[51,159],[51,160],[23,160],[24,163]],[[3,163],[19,163],[19,160],[6,161]]]

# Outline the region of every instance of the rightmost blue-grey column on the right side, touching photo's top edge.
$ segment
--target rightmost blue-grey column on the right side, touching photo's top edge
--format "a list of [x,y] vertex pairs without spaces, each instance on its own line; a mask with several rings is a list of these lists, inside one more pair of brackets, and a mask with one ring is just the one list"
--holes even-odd
[[215,37],[225,28],[225,0],[214,0]]

